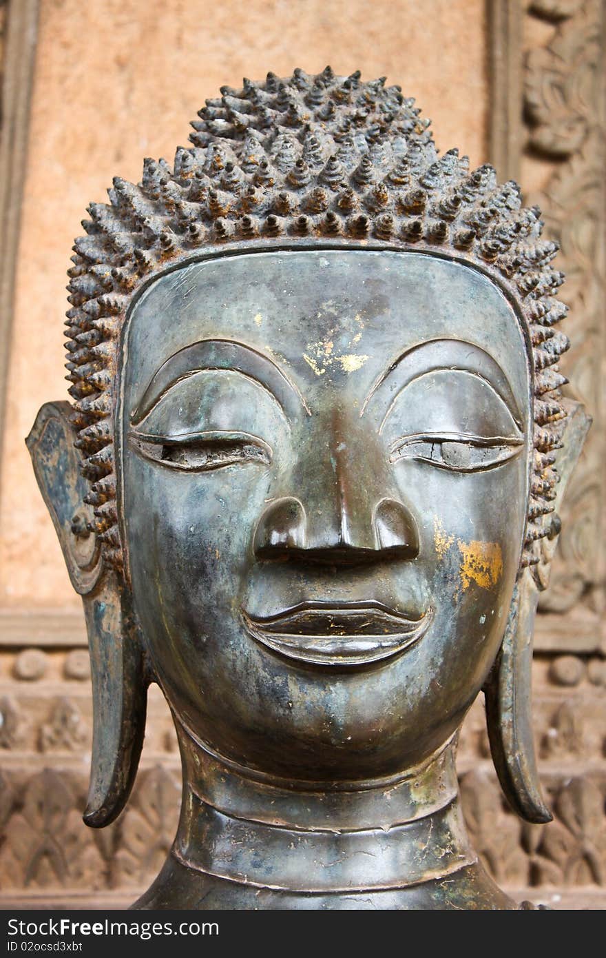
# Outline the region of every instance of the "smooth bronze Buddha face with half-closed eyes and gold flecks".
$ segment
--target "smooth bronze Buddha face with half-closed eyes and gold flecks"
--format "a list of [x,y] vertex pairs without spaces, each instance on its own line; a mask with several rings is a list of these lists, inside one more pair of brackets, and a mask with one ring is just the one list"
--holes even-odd
[[122,369],[123,539],[177,721],[292,780],[427,759],[523,546],[529,371],[500,289],[420,253],[222,256],[146,288]]

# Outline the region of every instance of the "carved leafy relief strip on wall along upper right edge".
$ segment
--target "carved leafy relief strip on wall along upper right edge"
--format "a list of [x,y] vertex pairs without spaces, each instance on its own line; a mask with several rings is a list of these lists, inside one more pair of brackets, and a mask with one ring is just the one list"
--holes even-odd
[[[587,593],[601,611],[604,483],[604,6],[600,0],[542,0],[530,15],[553,24],[550,42],[531,50],[525,71],[526,149],[551,162],[541,207],[561,245],[572,308],[572,349],[562,362],[594,416],[567,492],[559,557],[542,608],[565,613]],[[524,185],[524,184],[523,184]]]

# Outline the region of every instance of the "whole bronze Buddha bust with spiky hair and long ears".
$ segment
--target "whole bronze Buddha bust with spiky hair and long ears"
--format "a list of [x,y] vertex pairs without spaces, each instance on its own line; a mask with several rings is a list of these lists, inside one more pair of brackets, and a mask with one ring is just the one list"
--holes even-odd
[[28,440],[88,627],[84,820],[123,809],[155,681],[183,805],[134,907],[516,908],[454,759],[483,690],[510,804],[550,819],[532,627],[588,424],[556,244],[397,86],[221,94],[89,208],[75,403]]

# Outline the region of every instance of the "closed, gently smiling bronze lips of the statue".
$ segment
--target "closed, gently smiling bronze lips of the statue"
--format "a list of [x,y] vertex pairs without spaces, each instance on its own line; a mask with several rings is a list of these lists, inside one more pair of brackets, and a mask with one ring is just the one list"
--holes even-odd
[[354,666],[390,658],[424,635],[431,610],[403,614],[374,600],[344,604],[303,602],[266,617],[242,611],[253,638],[301,662]]

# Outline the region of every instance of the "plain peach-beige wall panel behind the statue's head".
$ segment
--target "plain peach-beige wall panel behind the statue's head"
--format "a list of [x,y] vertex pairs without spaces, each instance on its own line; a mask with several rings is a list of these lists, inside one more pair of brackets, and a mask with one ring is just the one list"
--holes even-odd
[[[421,14],[422,9],[422,14]],[[66,269],[113,176],[172,160],[207,97],[330,63],[387,74],[438,144],[486,158],[483,0],[42,0],[0,478],[0,607],[77,607],[24,438],[65,399]]]

